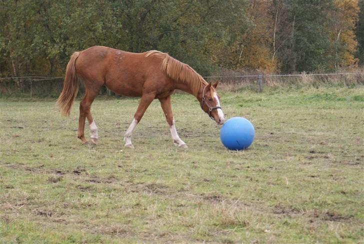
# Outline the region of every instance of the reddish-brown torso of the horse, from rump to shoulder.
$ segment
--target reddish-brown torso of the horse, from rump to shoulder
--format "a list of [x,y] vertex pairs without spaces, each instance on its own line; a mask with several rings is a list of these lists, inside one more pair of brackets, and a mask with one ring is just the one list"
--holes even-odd
[[87,87],[106,85],[123,96],[141,96],[148,79],[165,80],[161,60],[145,57],[146,53],[130,53],[113,48],[94,46],[81,52],[76,70]]

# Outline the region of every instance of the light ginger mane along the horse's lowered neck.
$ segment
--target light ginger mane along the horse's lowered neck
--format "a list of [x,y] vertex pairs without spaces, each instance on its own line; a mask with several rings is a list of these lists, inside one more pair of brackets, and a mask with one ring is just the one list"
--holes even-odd
[[197,96],[200,86],[208,85],[208,83],[200,76],[194,69],[192,69],[189,65],[186,65],[172,57],[170,57],[166,53],[162,53],[156,50],[152,50],[146,53],[145,57],[149,56],[157,56],[158,58],[163,59],[161,64],[161,70],[164,72],[169,78],[183,82],[187,84],[192,91],[194,96]]

